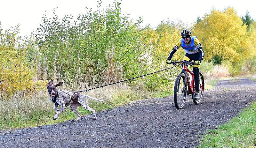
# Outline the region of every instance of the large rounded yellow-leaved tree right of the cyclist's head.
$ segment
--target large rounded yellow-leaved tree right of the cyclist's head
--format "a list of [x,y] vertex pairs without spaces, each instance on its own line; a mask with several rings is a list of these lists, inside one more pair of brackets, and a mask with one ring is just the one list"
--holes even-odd
[[201,22],[195,24],[194,33],[201,42],[205,60],[213,56],[232,63],[252,57],[252,44],[246,26],[233,8],[224,11],[212,10]]

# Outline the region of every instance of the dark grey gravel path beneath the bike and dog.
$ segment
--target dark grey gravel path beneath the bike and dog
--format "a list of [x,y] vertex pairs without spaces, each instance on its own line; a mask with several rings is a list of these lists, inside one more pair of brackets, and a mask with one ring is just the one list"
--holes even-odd
[[86,115],[78,122],[0,131],[0,147],[195,147],[202,134],[227,123],[256,101],[256,82],[248,78],[217,82],[202,104],[188,96],[177,110],[173,96],[139,100]]

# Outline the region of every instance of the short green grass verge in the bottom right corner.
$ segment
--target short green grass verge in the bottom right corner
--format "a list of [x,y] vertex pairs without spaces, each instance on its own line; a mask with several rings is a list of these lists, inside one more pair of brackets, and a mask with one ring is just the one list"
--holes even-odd
[[203,136],[198,148],[232,147],[248,148],[256,146],[256,102],[245,108],[229,123],[209,130]]

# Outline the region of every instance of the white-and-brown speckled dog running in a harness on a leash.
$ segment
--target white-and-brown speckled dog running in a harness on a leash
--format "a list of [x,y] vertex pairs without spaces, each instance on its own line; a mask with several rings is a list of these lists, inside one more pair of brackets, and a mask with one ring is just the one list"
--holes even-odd
[[[76,108],[79,105],[82,105],[86,110],[89,110],[93,113],[93,119],[96,119],[96,113],[95,110],[88,106],[86,98],[90,98],[97,101],[103,101],[100,99],[92,98],[91,96],[79,94],[74,100],[72,98],[75,96],[78,92],[70,92],[70,91],[63,91],[58,90],[56,87],[63,84],[63,82],[59,82],[58,84],[52,86],[53,80],[49,81],[47,85],[48,92],[50,94],[50,100],[55,103],[54,109],[58,111],[56,115],[52,118],[53,120],[56,120],[58,116],[60,115],[63,110],[70,105],[71,110],[78,116],[77,119],[72,120],[72,122],[78,121],[82,118],[82,116],[77,112]],[[71,101],[72,100],[72,101]],[[58,106],[60,106],[60,109],[58,109]]]

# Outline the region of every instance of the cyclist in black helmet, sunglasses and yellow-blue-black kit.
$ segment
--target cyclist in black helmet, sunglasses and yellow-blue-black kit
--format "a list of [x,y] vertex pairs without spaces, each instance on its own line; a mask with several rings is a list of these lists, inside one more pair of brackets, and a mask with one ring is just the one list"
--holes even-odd
[[193,97],[193,100],[196,100],[199,98],[199,68],[200,64],[203,61],[204,58],[204,50],[201,46],[201,43],[198,41],[196,36],[191,36],[191,31],[188,29],[184,29],[180,33],[181,39],[178,41],[175,46],[172,48],[172,51],[170,52],[166,63],[171,64],[172,63],[172,56],[173,54],[180,48],[182,47],[186,54],[183,58],[183,61],[186,62],[191,62],[194,61],[195,65],[193,68],[193,73],[194,73],[194,80],[195,80],[195,89],[196,93]]

